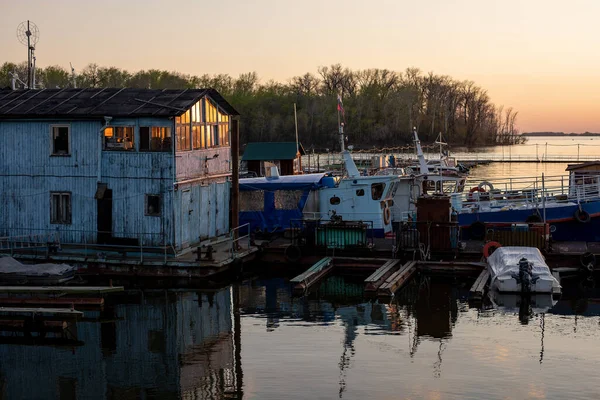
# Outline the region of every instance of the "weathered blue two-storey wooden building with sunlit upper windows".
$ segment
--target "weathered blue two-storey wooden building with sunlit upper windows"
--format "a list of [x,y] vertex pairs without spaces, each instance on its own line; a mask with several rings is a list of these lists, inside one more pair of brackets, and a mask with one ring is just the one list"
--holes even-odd
[[181,251],[229,232],[236,115],[213,89],[0,90],[0,236]]

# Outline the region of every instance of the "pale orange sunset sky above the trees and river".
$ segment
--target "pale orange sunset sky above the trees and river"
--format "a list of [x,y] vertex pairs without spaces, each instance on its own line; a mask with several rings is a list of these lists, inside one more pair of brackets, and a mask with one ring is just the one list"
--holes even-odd
[[262,81],[341,63],[469,79],[519,111],[521,131],[600,132],[600,1],[0,0],[0,63],[130,71],[256,71]]

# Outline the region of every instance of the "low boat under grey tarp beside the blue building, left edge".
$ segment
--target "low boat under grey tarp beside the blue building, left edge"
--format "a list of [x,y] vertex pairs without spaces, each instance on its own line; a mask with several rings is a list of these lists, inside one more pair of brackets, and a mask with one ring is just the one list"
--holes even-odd
[[67,264],[23,264],[12,257],[0,258],[0,283],[58,285],[75,277],[77,268]]

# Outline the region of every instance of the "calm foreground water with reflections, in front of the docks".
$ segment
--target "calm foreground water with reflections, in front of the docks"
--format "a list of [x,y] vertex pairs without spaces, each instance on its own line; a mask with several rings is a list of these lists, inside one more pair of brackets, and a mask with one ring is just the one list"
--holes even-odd
[[389,303],[340,277],[300,298],[279,278],[129,291],[70,342],[3,333],[0,398],[597,399],[600,292],[582,282],[521,310],[426,276]]

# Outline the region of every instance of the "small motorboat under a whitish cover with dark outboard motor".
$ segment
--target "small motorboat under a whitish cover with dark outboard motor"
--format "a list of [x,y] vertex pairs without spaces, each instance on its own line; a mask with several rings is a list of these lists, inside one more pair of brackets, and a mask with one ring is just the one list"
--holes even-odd
[[535,247],[507,246],[488,257],[490,289],[501,293],[559,294],[559,282]]

